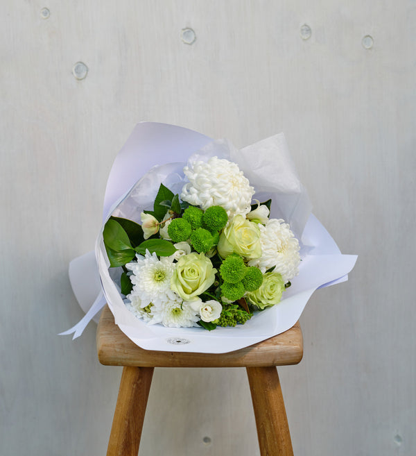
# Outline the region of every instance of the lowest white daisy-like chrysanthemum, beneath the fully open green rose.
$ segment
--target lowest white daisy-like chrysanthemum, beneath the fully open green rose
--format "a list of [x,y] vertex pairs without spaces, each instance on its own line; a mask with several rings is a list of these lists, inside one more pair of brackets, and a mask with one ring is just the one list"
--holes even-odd
[[193,310],[187,302],[182,302],[182,299],[168,301],[162,305],[152,308],[153,319],[150,324],[162,323],[168,328],[191,328],[198,326],[196,324],[200,317],[198,312]]

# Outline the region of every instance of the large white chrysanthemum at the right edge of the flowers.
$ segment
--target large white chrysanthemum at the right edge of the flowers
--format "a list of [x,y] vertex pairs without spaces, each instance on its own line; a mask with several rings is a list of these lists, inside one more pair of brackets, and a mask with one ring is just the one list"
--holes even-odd
[[270,219],[266,226],[259,225],[259,228],[262,254],[260,258],[250,260],[249,266],[257,266],[263,273],[275,266],[274,272],[280,273],[284,282],[288,282],[299,273],[299,242],[284,220]]

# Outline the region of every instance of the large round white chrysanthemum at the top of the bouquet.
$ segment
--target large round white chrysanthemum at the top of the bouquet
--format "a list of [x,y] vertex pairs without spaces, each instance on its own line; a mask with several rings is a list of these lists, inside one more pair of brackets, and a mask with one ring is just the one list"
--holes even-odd
[[250,212],[254,188],[236,163],[212,157],[207,162],[194,162],[191,167],[184,167],[184,174],[189,183],[182,188],[182,201],[203,210],[213,205],[222,206],[228,219]]

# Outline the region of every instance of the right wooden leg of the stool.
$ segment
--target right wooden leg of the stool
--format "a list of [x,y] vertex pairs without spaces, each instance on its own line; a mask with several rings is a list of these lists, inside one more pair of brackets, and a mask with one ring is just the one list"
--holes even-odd
[[261,456],[293,456],[291,434],[275,367],[247,367]]

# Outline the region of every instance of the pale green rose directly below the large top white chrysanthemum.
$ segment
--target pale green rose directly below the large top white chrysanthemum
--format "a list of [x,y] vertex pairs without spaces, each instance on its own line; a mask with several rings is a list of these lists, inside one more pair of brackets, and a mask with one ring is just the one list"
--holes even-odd
[[261,257],[260,228],[257,223],[237,214],[223,229],[218,241],[218,253],[225,258],[237,253],[250,260]]

